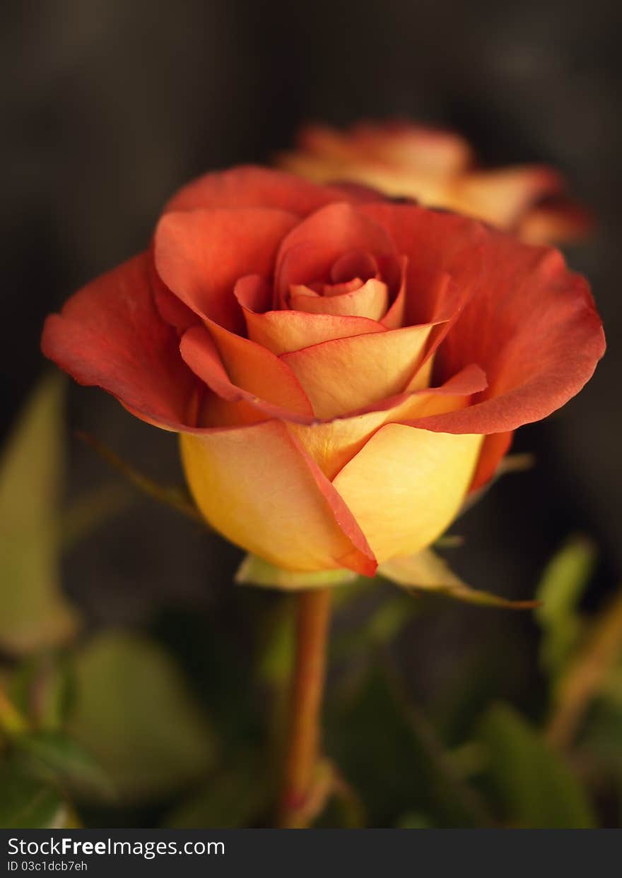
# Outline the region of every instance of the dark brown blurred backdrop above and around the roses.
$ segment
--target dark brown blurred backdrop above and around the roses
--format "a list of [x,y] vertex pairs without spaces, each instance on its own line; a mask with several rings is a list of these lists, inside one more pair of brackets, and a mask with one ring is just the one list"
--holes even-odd
[[[45,314],[141,249],[163,201],[187,179],[269,161],[306,119],[399,115],[456,127],[486,162],[561,169],[596,213],[597,233],[568,258],[593,282],[609,342],[587,389],[520,431],[517,450],[533,451],[538,465],[495,486],[459,522],[454,530],[467,543],[456,563],[475,587],[526,597],[546,558],[580,529],[602,550],[588,596],[596,607],[622,569],[619,10],[605,0],[5,7],[4,432],[44,369]],[[174,438],[103,393],[72,386],[69,422],[155,478],[180,478]],[[69,494],[110,478],[72,443]],[[93,623],[144,623],[179,603],[206,613],[218,603],[226,614],[239,557],[137,500],[71,553],[66,587]],[[442,679],[443,657],[456,659],[482,631],[520,633],[515,639],[528,644],[531,625],[525,616],[450,608],[430,625],[415,623],[415,651],[436,658],[413,674],[422,684]]]

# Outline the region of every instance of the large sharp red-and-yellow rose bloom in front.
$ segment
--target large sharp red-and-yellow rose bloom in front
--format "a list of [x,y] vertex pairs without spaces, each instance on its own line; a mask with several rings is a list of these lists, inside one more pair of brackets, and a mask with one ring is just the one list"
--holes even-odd
[[42,347],[180,434],[229,540],[372,576],[434,541],[512,431],[582,388],[604,335],[555,250],[237,168],[177,192],[148,250],[48,317]]

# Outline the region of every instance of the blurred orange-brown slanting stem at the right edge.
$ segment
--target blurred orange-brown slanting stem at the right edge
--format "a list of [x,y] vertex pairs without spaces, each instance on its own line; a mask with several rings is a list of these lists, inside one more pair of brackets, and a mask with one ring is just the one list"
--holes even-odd
[[604,608],[582,649],[568,663],[554,693],[546,736],[565,747],[575,735],[590,702],[606,686],[622,655],[622,593]]

